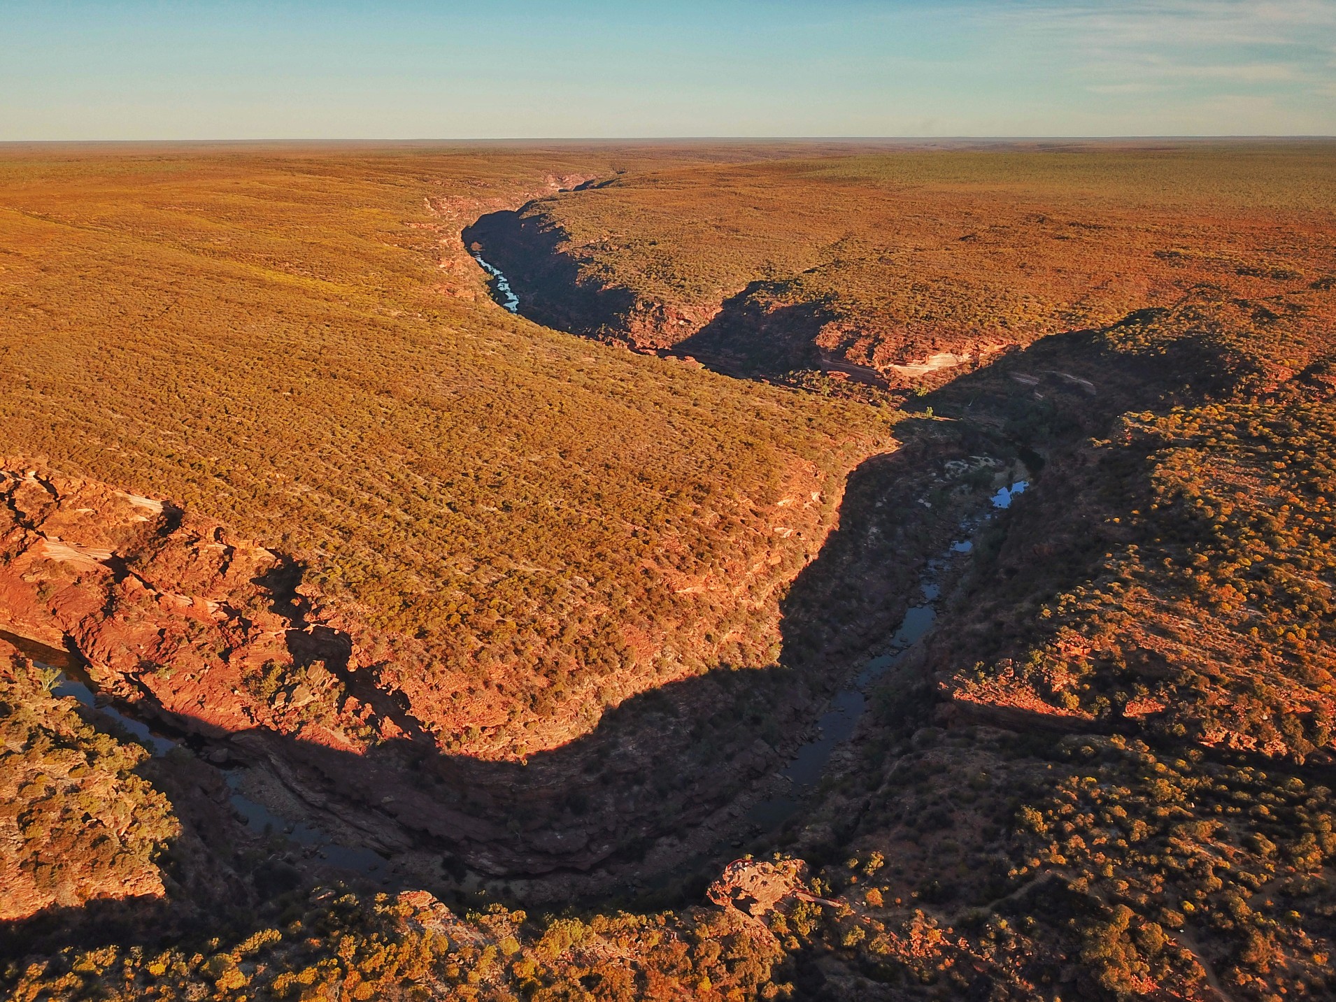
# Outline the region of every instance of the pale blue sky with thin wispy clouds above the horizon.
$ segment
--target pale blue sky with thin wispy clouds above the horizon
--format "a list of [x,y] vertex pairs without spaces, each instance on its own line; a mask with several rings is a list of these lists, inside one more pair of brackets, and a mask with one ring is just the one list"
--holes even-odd
[[0,0],[0,140],[1336,134],[1336,0]]

